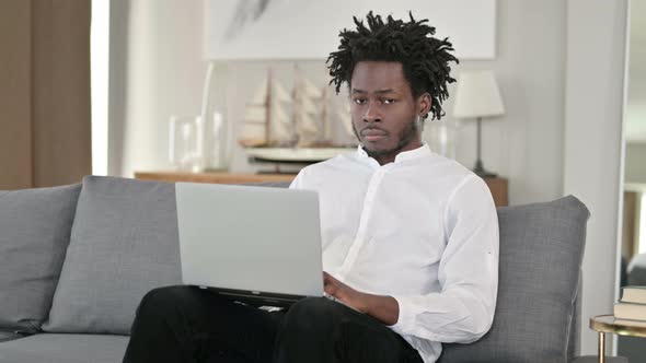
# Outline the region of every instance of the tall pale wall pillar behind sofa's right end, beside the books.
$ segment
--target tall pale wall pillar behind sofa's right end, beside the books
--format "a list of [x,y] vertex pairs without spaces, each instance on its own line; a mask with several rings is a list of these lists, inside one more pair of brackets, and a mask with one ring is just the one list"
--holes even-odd
[[564,192],[590,210],[581,321],[582,352],[596,351],[588,318],[616,298],[618,211],[627,1],[567,1]]

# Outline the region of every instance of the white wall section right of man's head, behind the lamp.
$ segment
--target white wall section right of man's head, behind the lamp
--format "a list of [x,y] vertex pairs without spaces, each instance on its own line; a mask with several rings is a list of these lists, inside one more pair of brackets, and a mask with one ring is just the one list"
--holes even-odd
[[[493,69],[500,86],[506,115],[483,122],[483,162],[509,178],[510,203],[555,199],[562,195],[565,3],[498,1],[497,31],[495,60],[458,69]],[[475,122],[462,125],[457,160],[472,167]]]

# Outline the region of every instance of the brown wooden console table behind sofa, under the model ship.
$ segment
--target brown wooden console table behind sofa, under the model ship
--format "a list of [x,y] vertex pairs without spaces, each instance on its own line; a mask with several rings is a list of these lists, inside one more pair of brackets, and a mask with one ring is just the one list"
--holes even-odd
[[[212,184],[243,184],[266,182],[291,182],[295,174],[229,174],[229,173],[187,173],[187,172],[136,172],[135,178],[158,182],[188,182]],[[507,179],[495,177],[484,178],[492,190],[496,207],[505,207],[508,202]]]

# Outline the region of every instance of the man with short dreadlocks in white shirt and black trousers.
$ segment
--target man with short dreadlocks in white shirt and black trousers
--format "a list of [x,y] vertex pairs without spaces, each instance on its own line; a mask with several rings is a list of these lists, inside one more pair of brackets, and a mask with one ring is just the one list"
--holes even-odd
[[[498,224],[484,182],[422,143],[443,115],[451,44],[369,13],[328,58],[349,87],[356,154],[305,167],[319,192],[325,292],[267,312],[188,286],[138,309],[125,362],[435,362],[489,329]],[[334,300],[338,300],[336,302]]]

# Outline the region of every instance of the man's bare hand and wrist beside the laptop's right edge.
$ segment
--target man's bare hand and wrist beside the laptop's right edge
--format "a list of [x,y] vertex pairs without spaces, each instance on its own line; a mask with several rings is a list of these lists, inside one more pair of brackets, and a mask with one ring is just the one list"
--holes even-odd
[[397,323],[400,305],[392,296],[372,295],[357,291],[336,280],[327,272],[323,272],[323,286],[325,293],[341,300],[360,313],[368,314],[387,325]]

